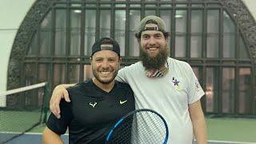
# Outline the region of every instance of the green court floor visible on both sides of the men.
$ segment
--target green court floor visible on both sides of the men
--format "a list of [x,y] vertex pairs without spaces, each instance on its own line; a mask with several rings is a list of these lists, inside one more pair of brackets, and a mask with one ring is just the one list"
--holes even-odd
[[[18,132],[40,123],[40,111],[12,112],[0,110],[0,131]],[[206,118],[208,139],[218,141],[256,142],[256,118]],[[42,133],[45,125],[29,132]]]

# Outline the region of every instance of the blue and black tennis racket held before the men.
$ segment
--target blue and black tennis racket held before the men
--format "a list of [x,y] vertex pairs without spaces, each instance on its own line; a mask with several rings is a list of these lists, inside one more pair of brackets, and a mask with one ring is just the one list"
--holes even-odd
[[115,122],[106,135],[106,144],[166,144],[168,126],[154,110],[134,110]]

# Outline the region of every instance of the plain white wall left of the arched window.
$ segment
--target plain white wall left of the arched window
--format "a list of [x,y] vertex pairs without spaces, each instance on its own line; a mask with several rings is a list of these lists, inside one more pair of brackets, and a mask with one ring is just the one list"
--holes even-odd
[[[15,35],[34,1],[35,0],[0,1],[0,92],[6,90],[8,62]],[[0,97],[0,106],[5,105],[5,98]]]

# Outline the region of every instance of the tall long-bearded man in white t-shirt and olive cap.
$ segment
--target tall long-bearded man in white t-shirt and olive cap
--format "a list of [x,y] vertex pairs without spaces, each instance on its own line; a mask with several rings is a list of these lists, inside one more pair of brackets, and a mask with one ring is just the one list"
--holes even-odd
[[[200,98],[204,91],[190,65],[169,58],[165,22],[156,16],[143,18],[138,27],[140,62],[118,71],[117,80],[134,91],[136,109],[152,109],[162,114],[170,127],[171,144],[206,144],[206,122]],[[58,102],[69,101],[66,86],[54,90],[50,110],[59,118]]]

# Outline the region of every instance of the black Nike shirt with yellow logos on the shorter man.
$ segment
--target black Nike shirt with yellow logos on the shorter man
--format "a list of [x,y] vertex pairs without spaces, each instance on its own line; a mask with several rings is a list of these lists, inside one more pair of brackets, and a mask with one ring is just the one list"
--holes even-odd
[[71,102],[60,103],[61,118],[50,114],[46,126],[56,134],[69,129],[69,142],[100,144],[114,122],[135,109],[134,93],[126,83],[115,82],[107,93],[92,80],[67,89]]

